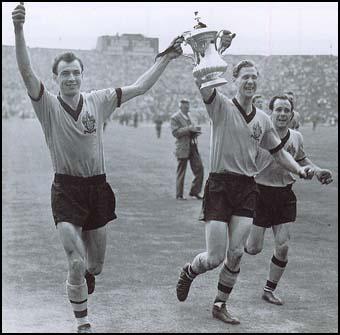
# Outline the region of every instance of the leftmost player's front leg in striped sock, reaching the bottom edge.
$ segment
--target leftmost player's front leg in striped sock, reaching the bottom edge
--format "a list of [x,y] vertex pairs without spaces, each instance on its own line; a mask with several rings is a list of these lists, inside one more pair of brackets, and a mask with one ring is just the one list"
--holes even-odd
[[87,316],[88,292],[84,279],[86,257],[82,227],[68,222],[59,222],[57,229],[68,260],[66,291],[78,324],[78,332],[90,332]]

